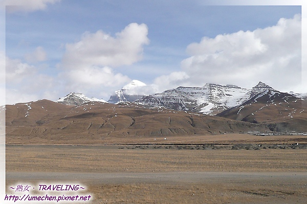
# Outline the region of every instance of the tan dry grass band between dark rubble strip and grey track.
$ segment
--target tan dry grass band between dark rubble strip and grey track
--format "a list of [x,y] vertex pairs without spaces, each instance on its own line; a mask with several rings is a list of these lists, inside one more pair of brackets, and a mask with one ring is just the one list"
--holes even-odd
[[12,145],[6,170],[39,172],[307,171],[306,149],[178,150]]

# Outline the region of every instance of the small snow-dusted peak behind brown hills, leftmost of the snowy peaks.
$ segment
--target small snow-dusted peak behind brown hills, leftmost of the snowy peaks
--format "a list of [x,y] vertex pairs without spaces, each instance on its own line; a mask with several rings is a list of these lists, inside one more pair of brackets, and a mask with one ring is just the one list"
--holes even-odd
[[103,99],[98,99],[95,97],[89,98],[83,95],[82,93],[69,93],[65,97],[59,98],[55,102],[60,103],[60,104],[65,104],[65,105],[78,106],[84,103],[88,103],[90,101],[99,101],[102,103],[107,103]]

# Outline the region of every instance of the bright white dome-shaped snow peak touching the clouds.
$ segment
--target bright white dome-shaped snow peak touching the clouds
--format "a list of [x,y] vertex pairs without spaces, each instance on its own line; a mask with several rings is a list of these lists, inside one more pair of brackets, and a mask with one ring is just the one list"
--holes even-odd
[[146,84],[143,82],[133,80],[129,84],[123,86],[121,90],[115,91],[108,99],[108,103],[116,104],[119,102],[136,101],[146,95],[144,93],[144,87],[146,87]]

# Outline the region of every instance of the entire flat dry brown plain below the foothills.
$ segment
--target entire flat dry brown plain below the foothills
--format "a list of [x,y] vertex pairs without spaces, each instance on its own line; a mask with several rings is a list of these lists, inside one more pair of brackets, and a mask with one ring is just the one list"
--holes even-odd
[[198,138],[189,144],[7,145],[7,188],[77,182],[93,196],[83,203],[306,202],[306,136],[211,137],[203,144]]

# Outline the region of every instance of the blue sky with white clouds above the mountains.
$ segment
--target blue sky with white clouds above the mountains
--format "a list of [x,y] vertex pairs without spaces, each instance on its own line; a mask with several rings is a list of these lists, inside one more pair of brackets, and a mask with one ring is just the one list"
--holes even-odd
[[131,80],[147,94],[259,81],[307,92],[301,6],[208,2],[4,0],[5,103],[70,92],[108,100]]

